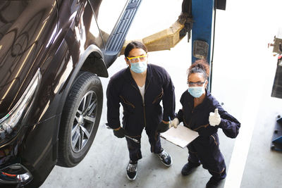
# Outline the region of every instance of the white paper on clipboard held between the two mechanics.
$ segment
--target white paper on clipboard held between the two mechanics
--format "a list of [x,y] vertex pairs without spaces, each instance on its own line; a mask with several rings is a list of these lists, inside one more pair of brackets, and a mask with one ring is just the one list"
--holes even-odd
[[185,146],[198,136],[198,132],[190,130],[188,127],[184,127],[183,125],[178,125],[177,128],[171,127],[166,132],[161,133],[162,138],[182,148],[185,148]]

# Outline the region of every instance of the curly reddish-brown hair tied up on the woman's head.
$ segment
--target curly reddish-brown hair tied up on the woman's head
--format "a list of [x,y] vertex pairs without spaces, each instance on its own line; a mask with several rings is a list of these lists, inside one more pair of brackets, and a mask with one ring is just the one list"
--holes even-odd
[[209,64],[205,59],[198,59],[197,61],[192,63],[190,68],[187,70],[187,73],[188,77],[192,73],[202,73],[204,75],[204,79],[207,80],[207,78],[209,77]]

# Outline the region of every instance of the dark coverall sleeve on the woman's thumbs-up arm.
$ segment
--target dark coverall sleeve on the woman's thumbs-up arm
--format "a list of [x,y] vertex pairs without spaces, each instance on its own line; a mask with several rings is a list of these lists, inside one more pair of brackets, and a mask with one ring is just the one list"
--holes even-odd
[[219,127],[223,130],[224,134],[230,138],[237,137],[241,125],[240,122],[224,111],[220,105],[216,108],[219,109],[219,115],[221,116],[221,123],[219,123]]

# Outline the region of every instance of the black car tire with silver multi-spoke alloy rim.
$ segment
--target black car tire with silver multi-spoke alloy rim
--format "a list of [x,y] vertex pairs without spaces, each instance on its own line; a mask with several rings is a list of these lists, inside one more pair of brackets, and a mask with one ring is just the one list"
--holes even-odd
[[82,161],[97,133],[102,105],[99,77],[80,72],[63,106],[57,165],[73,167]]

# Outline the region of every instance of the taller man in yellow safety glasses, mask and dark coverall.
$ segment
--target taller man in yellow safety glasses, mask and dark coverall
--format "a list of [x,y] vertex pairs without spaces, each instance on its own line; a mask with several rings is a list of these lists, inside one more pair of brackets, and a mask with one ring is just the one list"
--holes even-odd
[[[143,129],[149,137],[151,152],[156,153],[164,165],[169,167],[172,164],[171,156],[161,148],[159,132],[168,130],[169,118],[175,117],[175,94],[166,70],[148,64],[145,44],[130,42],[124,55],[128,68],[111,77],[106,90],[107,120],[114,135],[125,137],[127,141],[130,161],[126,174],[129,180],[135,180],[137,161],[142,158],[140,141]],[[123,126],[119,119],[120,104],[123,106]]]

